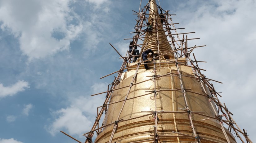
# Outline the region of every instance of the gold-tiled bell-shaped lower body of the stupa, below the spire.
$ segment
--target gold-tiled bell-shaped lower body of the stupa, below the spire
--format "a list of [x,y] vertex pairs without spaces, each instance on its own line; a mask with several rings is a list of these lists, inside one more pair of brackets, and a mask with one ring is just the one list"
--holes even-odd
[[[181,66],[180,67],[182,74],[184,75],[191,75],[192,70],[190,67]],[[176,72],[176,67],[162,68],[157,69],[157,75],[164,75],[168,72]],[[125,72],[122,81],[118,85],[117,88],[124,87],[130,85],[132,81],[132,77],[135,71],[128,71]],[[152,71],[144,69],[139,70],[137,75],[136,83],[141,82],[144,80],[149,79],[154,73]],[[184,82],[185,88],[191,88],[192,91],[202,93],[202,88],[197,80],[183,77],[182,81]],[[157,90],[168,90],[171,88],[171,82],[173,82],[173,88],[180,88],[180,81],[177,77],[173,77],[173,81],[171,77],[161,77],[156,80],[156,89]],[[152,91],[154,90],[154,82],[153,81],[146,81],[141,84],[137,84],[132,86],[132,90],[128,96],[128,98],[140,96],[146,94],[145,91]],[[110,103],[124,100],[126,94],[128,92],[128,88],[123,88],[117,90],[113,93]],[[203,94],[203,93],[202,93]],[[184,108],[184,99],[181,91],[174,91],[174,111],[180,111],[178,108]],[[212,110],[211,106],[209,105],[209,99],[204,96],[200,96],[194,93],[187,92],[187,99],[188,99],[188,106],[191,111],[203,111],[206,115],[215,116],[214,111]],[[173,111],[172,107],[172,92],[158,92],[157,96],[157,111],[164,110],[164,111]],[[107,114],[106,114],[106,121],[104,125],[112,123],[116,120],[120,109],[122,107],[123,102],[119,102],[116,104],[111,104],[108,107]],[[148,113],[142,113],[141,111],[154,111],[155,110],[155,100],[154,94],[134,98],[132,100],[127,100],[121,113],[120,119],[126,120],[129,118],[145,115]],[[221,143],[226,142],[226,139],[222,133],[221,126],[216,120],[205,120],[201,121],[201,119],[205,119],[204,116],[200,116],[194,114],[192,116],[195,129],[197,133],[202,136],[206,136],[207,139],[211,139],[213,141],[219,141]],[[180,133],[186,133],[192,135],[191,127],[189,125],[187,114],[176,114],[176,124],[177,130]],[[152,120],[152,116],[146,116],[126,122],[121,122],[118,125],[117,132],[115,133],[113,143],[128,143],[133,141],[141,141],[146,139],[152,139],[150,134],[153,134],[154,129],[153,126],[155,125],[155,121]],[[97,143],[106,143],[109,141],[110,135],[113,130],[113,125],[108,126],[103,129],[102,133],[99,134],[96,141]],[[174,121],[173,121],[173,113],[161,113],[159,114],[159,122],[158,122],[158,134],[159,135],[172,135],[171,131],[175,131]],[[235,143],[235,139],[232,134],[226,130],[227,135],[230,137],[230,141]],[[179,138],[181,142],[192,142],[195,139],[192,138]],[[152,141],[151,141],[152,142]],[[161,142],[177,142],[177,137],[173,138],[161,138]],[[205,141],[204,141],[205,142]]]

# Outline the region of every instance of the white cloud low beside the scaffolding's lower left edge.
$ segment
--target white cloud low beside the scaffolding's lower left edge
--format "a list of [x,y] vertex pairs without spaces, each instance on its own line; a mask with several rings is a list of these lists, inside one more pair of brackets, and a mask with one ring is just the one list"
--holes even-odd
[[[92,86],[92,93],[103,92],[107,90],[107,83],[96,83]],[[102,97],[103,96],[103,97]],[[103,104],[104,95],[94,97],[70,98],[70,106],[52,112],[56,119],[46,129],[53,136],[66,129],[71,135],[81,135],[90,130],[92,121],[94,122],[97,115],[97,107]]]

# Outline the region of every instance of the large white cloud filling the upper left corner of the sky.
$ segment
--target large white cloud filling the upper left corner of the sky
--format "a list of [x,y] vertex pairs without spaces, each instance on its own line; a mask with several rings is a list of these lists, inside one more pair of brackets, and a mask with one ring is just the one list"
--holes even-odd
[[[70,47],[70,41],[83,29],[72,12],[72,0],[1,1],[2,30],[10,30],[20,41],[20,49],[29,60],[43,58]],[[72,23],[77,20],[78,23]]]

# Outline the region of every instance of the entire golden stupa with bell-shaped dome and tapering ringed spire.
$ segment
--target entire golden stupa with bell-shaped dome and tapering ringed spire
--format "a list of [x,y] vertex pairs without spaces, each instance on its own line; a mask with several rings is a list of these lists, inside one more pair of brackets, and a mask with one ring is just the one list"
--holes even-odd
[[99,117],[106,111],[104,128],[96,130],[97,117],[93,132],[85,135],[89,139],[86,142],[91,142],[97,131],[95,143],[236,143],[223,126],[222,113],[213,101],[216,97],[209,96],[215,93],[196,78],[198,69],[186,64],[187,57],[170,52],[175,49],[171,46],[174,42],[168,42],[155,0],[149,0],[147,16],[153,31],[145,32],[141,53],[149,48],[154,51],[155,59],[148,61],[150,70],[140,58],[124,63],[127,71],[121,73],[115,90],[108,91],[111,97],[101,106],[107,109],[98,113]]

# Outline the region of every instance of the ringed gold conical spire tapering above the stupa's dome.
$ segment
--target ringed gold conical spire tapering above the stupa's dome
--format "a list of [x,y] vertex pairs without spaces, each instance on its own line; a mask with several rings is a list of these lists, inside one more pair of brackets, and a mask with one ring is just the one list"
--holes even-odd
[[[146,32],[146,38],[144,39],[143,44],[146,45],[146,43],[148,43],[146,49],[152,49],[152,51],[154,51],[155,53],[158,53],[158,44],[157,41],[159,41],[159,53],[161,55],[161,52],[164,51],[170,51],[172,50],[170,43],[168,42],[166,36],[165,36],[165,32],[163,31],[163,25],[161,25],[161,19],[158,15],[158,7],[155,4],[155,0],[151,0],[150,1],[150,8],[149,8],[149,19],[148,22],[153,25],[153,31],[149,31]],[[158,24],[156,26],[156,24]],[[158,31],[156,31],[158,30]],[[157,35],[158,35],[158,39],[157,39]],[[159,36],[159,35],[163,35],[163,36]],[[150,36],[150,37],[148,37]],[[164,42],[164,43],[161,43]],[[144,48],[144,46],[142,46],[142,48]],[[145,49],[145,50],[146,50]],[[142,52],[143,50],[141,50]],[[164,54],[164,53],[163,53]],[[164,55],[164,57],[166,59],[170,59],[170,58],[174,58],[173,53],[169,54],[169,55]]]

